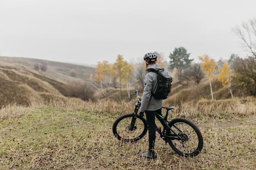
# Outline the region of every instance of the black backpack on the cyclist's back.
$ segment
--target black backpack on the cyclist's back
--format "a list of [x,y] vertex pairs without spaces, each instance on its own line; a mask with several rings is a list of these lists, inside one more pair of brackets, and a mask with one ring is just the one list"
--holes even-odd
[[148,69],[148,72],[157,73],[157,89],[155,94],[152,91],[151,95],[153,95],[153,97],[156,99],[167,99],[168,94],[171,92],[171,85],[173,82],[171,75],[169,75],[169,73],[164,68],[160,68],[158,71],[155,71],[154,69]]

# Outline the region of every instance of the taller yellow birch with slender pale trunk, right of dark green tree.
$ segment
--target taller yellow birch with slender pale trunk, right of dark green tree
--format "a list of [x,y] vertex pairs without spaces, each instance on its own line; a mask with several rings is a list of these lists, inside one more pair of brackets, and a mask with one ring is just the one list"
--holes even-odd
[[211,99],[213,100],[213,92],[211,87],[211,81],[213,77],[213,73],[216,72],[216,62],[211,59],[208,55],[199,56],[199,60],[202,61],[201,63],[201,69],[204,73],[206,73],[206,76],[209,78],[210,82],[210,88],[211,88]]

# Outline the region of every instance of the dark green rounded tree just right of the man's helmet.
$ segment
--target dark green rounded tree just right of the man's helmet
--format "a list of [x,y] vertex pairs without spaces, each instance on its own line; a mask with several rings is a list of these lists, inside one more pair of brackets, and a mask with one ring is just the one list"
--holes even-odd
[[181,78],[182,70],[185,68],[189,68],[191,66],[191,62],[194,59],[189,59],[190,53],[187,53],[184,47],[175,48],[173,53],[170,53],[170,65],[169,69],[173,71],[176,68],[178,79]]

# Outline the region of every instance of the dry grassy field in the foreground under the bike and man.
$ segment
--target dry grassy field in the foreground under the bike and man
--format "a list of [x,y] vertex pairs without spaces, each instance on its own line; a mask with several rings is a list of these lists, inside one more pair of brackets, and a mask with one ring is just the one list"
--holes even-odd
[[[126,102],[49,102],[0,109],[1,170],[255,170],[255,101],[177,107],[170,118],[187,117],[202,131],[204,148],[194,158],[177,155],[157,136],[157,159],[139,154],[148,136],[118,141],[112,124],[133,108]],[[178,111],[180,110],[180,111]]]

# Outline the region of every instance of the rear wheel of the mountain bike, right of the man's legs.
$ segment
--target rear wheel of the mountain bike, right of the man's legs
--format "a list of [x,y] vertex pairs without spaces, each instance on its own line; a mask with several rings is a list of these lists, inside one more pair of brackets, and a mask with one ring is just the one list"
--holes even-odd
[[[177,126],[185,133],[184,135],[180,133],[183,137],[182,140],[167,138],[168,144],[177,154],[185,157],[195,157],[201,152],[204,145],[202,133],[198,126],[196,126],[192,121],[178,117],[171,120],[168,125],[177,134],[179,134],[180,131],[178,131],[174,126]],[[166,134],[173,133],[169,128],[167,128]]]

